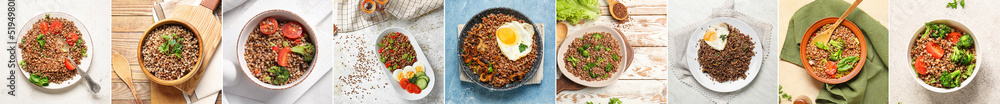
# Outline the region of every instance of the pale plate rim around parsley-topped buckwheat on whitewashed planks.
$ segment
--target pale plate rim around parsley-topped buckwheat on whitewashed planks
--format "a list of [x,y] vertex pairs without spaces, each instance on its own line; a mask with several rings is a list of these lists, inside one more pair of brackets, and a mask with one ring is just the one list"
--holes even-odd
[[[566,59],[564,59],[565,54],[566,54],[566,49],[569,48],[569,45],[572,44],[573,41],[576,40],[576,38],[583,37],[583,35],[589,35],[589,34],[586,34],[586,33],[593,33],[593,32],[607,32],[607,33],[610,33],[609,35],[611,35],[611,37],[614,38],[615,40],[617,40],[617,42],[618,42],[618,45],[619,45],[618,46],[619,47],[619,49],[618,49],[618,55],[622,56],[622,57],[620,57],[621,60],[618,62],[618,69],[615,69],[615,70],[618,70],[618,71],[616,71],[613,75],[611,75],[611,78],[608,78],[608,79],[602,80],[602,81],[586,81],[586,80],[580,79],[579,76],[573,75],[572,73],[569,72],[569,70],[566,69]],[[625,72],[625,69],[628,68],[628,67],[625,67],[625,66],[628,66],[627,65],[628,64],[628,60],[625,60],[625,59],[629,59],[629,57],[632,57],[632,56],[630,56],[628,54],[625,54],[625,52],[628,51],[625,48],[628,48],[628,46],[625,46],[624,38],[621,37],[620,33],[618,33],[618,31],[616,31],[615,29],[613,29],[611,27],[608,27],[608,26],[590,26],[590,27],[587,27],[587,28],[583,28],[580,31],[575,31],[572,34],[568,34],[566,36],[566,41],[563,41],[562,44],[559,44],[559,50],[557,52],[558,55],[557,55],[557,58],[556,58],[556,64],[559,65],[559,71],[562,72],[563,75],[565,75],[566,77],[568,77],[573,82],[576,82],[576,83],[578,83],[580,85],[584,85],[584,86],[587,86],[587,87],[604,87],[604,86],[611,85],[612,83],[615,83],[616,81],[618,81],[618,77],[621,77],[622,72]]]

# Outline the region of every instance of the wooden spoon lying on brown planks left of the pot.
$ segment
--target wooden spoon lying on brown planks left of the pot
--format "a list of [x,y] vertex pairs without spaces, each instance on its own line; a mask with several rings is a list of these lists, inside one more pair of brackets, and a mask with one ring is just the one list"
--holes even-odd
[[129,68],[128,65],[128,60],[122,55],[115,54],[111,58],[111,66],[115,70],[115,74],[118,74],[118,77],[122,81],[125,81],[125,85],[128,86],[128,89],[132,91],[132,96],[135,97],[135,102],[142,104],[142,99],[139,99],[139,94],[135,91],[135,84],[132,83],[132,68]]

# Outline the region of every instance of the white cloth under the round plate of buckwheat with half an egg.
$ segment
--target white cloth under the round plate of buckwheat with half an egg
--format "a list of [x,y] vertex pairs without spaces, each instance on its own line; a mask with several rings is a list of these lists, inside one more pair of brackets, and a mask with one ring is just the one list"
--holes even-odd
[[[671,76],[673,76],[673,80],[678,80],[679,82],[681,82],[684,85],[683,87],[687,87],[688,89],[693,89],[680,92],[693,91],[693,93],[698,93],[699,95],[703,95],[709,98],[709,100],[711,100],[712,102],[716,103],[729,103],[729,101],[732,101],[733,98],[739,95],[773,93],[773,92],[768,92],[769,90],[748,90],[749,88],[754,88],[754,86],[766,86],[764,84],[777,83],[777,80],[774,80],[776,79],[775,77],[777,77],[777,72],[775,71],[776,65],[767,65],[767,64],[773,64],[772,61],[775,61],[776,59],[776,58],[769,58],[769,54],[774,53],[774,51],[771,51],[773,46],[771,44],[772,43],[771,35],[773,34],[771,30],[773,28],[773,25],[771,23],[753,18],[747,14],[738,12],[733,8],[734,8],[734,1],[726,0],[725,3],[723,3],[723,7],[713,9],[712,15],[709,16],[708,18],[705,18],[704,20],[701,20],[699,22],[694,22],[695,24],[684,26],[683,28],[670,30],[671,32],[669,32],[669,35],[670,39],[672,39],[671,46],[674,46],[675,48],[670,50],[670,53],[677,54],[670,56],[671,60],[676,60],[672,62],[673,66],[671,66],[670,68],[670,74]],[[765,63],[763,64],[765,65],[761,66],[760,68],[761,71],[760,73],[758,73],[759,75],[756,77],[756,79],[754,79],[754,81],[750,83],[750,85],[747,85],[743,89],[734,92],[726,92],[726,93],[715,92],[701,86],[701,84],[699,84],[698,81],[694,79],[691,72],[689,71],[688,68],[689,66],[687,66],[687,60],[684,60],[684,57],[687,57],[684,56],[686,55],[684,54],[685,50],[683,48],[677,49],[678,47],[692,45],[688,44],[688,39],[690,39],[692,32],[694,32],[698,28],[701,28],[700,27],[702,25],[701,23],[705,23],[714,18],[719,18],[719,17],[736,18],[744,22],[747,22],[747,24],[749,24],[750,27],[753,27],[754,31],[757,31],[757,35],[759,35],[758,38],[760,40],[759,44],[761,44],[762,46],[761,48],[764,51],[763,60]],[[675,88],[675,89],[680,89],[680,88]],[[677,91],[672,91],[671,93],[681,94]]]

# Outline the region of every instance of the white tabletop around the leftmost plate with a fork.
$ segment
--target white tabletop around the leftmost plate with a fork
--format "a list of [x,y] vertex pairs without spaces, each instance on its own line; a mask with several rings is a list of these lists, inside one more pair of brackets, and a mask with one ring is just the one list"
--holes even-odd
[[[49,90],[34,87],[24,75],[20,74],[21,70],[7,67],[6,70],[3,70],[3,74],[0,74],[5,79],[3,90],[0,90],[4,92],[0,95],[0,101],[13,104],[111,103],[111,1],[18,0],[15,4],[17,9],[14,12],[16,14],[14,18],[16,20],[13,22],[17,25],[16,31],[20,31],[28,19],[44,12],[63,12],[80,20],[77,24],[83,24],[87,28],[91,34],[89,42],[94,43],[94,46],[88,46],[93,51],[93,54],[89,56],[94,59],[87,74],[101,86],[101,90],[98,93],[91,93],[89,85],[82,79],[80,82],[63,89]],[[4,5],[4,7],[8,6]],[[13,41],[12,39],[2,40],[3,42]],[[4,45],[16,47],[16,44]],[[2,55],[11,56],[8,52],[3,52]],[[8,70],[16,70],[18,74],[11,75],[7,72]],[[9,76],[15,77],[13,82],[15,83],[14,95],[16,96],[7,93],[11,91],[7,87],[10,85],[8,82],[10,80],[6,80]]]

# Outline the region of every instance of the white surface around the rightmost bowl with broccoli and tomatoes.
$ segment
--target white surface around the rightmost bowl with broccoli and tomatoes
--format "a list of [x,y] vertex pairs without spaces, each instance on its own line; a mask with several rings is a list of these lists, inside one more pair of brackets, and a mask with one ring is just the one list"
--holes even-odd
[[[945,8],[950,1],[945,0],[895,0],[892,1],[892,20],[889,22],[889,103],[905,104],[947,104],[947,103],[970,103],[985,104],[1000,102],[1000,96],[996,88],[1000,84],[996,79],[1000,79],[1000,71],[994,70],[1000,67],[995,59],[1000,59],[996,53],[996,46],[1000,45],[995,40],[1000,39],[1000,31],[996,29],[996,24],[1000,19],[996,17],[996,10],[1000,9],[996,0],[967,0],[965,8],[951,9]],[[936,19],[951,19],[964,24],[975,34],[979,45],[982,61],[977,63],[979,72],[968,86],[951,93],[936,93],[920,86],[921,82],[914,80],[913,69],[910,67],[907,47],[910,37],[917,33],[917,29],[925,22]]]

